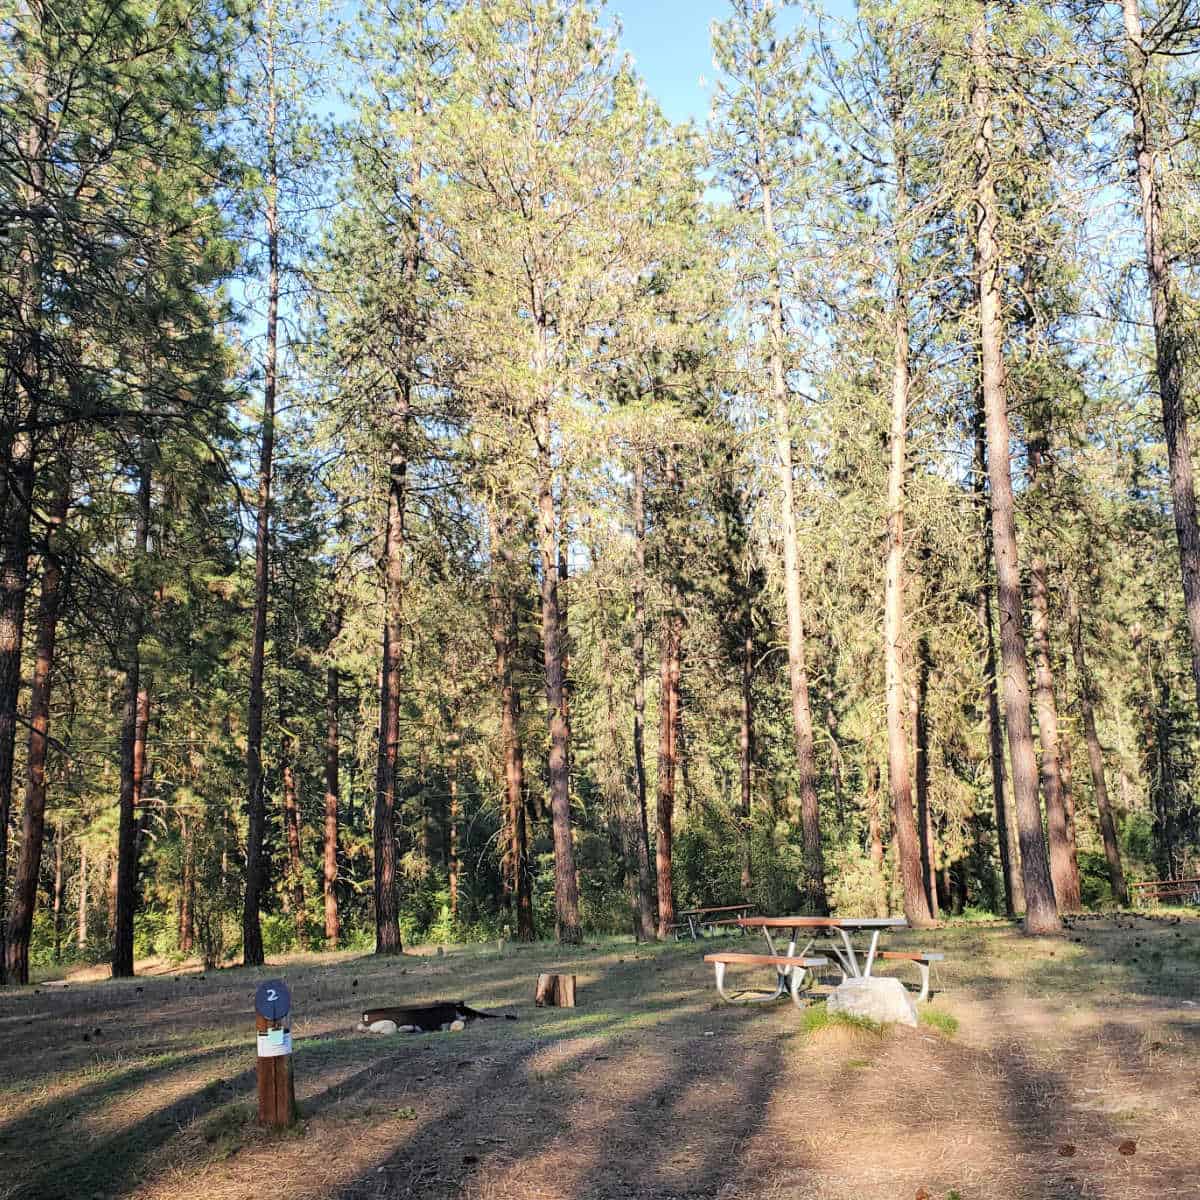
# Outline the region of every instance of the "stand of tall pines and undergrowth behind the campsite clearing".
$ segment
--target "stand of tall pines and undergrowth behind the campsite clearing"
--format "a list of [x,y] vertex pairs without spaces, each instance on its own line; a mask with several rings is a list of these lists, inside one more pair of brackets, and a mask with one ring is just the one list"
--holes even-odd
[[0,14],[0,971],[1200,875],[1196,0]]

